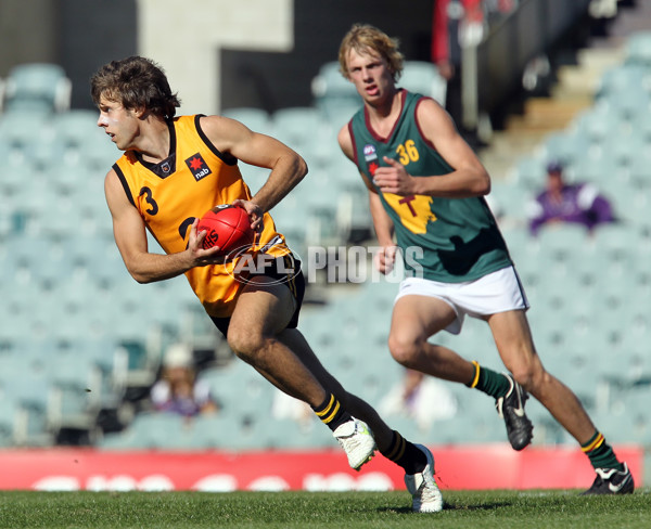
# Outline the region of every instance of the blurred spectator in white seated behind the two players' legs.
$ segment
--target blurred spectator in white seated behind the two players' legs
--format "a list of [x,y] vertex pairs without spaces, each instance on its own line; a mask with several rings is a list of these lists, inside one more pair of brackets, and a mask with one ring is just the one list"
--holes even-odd
[[406,369],[404,378],[388,390],[378,411],[387,418],[392,415],[413,418],[426,431],[434,421],[456,415],[457,399],[444,383]]

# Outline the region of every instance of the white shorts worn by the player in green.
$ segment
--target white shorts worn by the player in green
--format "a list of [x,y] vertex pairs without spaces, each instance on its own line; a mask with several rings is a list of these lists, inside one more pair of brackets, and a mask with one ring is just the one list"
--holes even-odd
[[459,334],[465,314],[471,318],[526,310],[529,308],[524,288],[513,267],[502,268],[476,281],[464,283],[439,283],[422,278],[407,278],[394,304],[404,296],[429,296],[444,300],[457,313],[457,319],[445,330]]

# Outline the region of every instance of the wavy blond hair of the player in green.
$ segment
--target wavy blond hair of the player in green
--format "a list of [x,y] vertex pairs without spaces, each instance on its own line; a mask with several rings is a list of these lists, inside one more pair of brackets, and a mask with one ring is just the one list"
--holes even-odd
[[347,60],[350,50],[355,50],[357,53],[374,52],[386,61],[394,81],[397,81],[403,74],[403,62],[405,60],[405,56],[398,50],[399,43],[397,38],[390,37],[370,24],[354,24],[340,46],[340,72],[348,79]]

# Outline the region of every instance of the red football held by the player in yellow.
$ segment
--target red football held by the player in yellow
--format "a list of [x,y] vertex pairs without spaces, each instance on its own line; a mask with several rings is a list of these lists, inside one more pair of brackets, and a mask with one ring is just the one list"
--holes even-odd
[[219,246],[222,254],[234,250],[246,250],[255,240],[246,210],[238,206],[225,204],[206,211],[199,220],[196,231],[206,231],[203,241],[204,249]]

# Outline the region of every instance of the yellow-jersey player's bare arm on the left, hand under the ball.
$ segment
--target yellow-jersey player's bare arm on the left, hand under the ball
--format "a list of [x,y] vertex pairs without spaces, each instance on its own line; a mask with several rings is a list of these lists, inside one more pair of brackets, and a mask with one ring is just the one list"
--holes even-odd
[[190,229],[188,248],[178,254],[151,254],[148,248],[144,221],[129,202],[125,190],[111,169],[104,180],[106,203],[113,219],[115,243],[127,270],[138,283],[152,283],[176,278],[193,267],[220,262],[218,247],[203,249],[205,232],[197,233],[195,220]]

